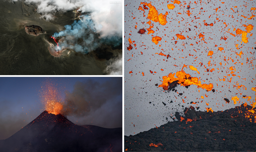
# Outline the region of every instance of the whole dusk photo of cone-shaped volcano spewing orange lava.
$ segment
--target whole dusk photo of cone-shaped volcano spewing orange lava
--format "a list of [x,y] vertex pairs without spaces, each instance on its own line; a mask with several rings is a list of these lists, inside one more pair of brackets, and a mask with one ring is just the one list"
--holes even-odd
[[[122,151],[122,78],[1,78],[0,81],[10,84],[6,91],[1,89],[6,94],[0,98],[1,152]],[[23,82],[17,84],[20,81]],[[12,87],[22,88],[20,94],[14,93],[21,95],[19,99],[8,97]],[[36,104],[34,88],[40,96]],[[95,97],[101,91],[105,92],[101,93],[103,97]]]

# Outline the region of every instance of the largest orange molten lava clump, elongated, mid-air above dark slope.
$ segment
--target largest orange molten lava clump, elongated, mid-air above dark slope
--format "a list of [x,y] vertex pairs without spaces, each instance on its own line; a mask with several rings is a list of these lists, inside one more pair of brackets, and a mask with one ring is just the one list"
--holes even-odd
[[176,73],[177,78],[175,78],[174,76],[175,73],[170,73],[168,76],[163,76],[163,83],[158,87],[163,87],[164,90],[168,90],[168,82],[172,83],[178,80],[178,84],[181,84],[182,86],[196,85],[197,87],[206,89],[207,91],[211,91],[213,88],[213,84],[201,84],[201,81],[199,81],[198,78],[191,77],[191,75],[187,74],[184,70],[178,71]]

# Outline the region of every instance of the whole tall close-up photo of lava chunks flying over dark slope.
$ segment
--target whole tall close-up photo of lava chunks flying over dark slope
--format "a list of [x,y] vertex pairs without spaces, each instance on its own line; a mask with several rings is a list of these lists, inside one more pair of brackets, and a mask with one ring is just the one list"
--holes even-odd
[[256,151],[256,2],[125,0],[124,151]]

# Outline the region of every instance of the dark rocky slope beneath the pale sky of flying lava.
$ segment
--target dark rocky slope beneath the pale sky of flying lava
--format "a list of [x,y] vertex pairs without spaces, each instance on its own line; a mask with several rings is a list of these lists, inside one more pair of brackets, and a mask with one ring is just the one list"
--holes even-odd
[[[134,136],[125,136],[125,150],[254,152],[256,123],[245,118],[243,113],[248,113],[248,109],[242,105],[212,113],[187,108],[183,121],[168,122]],[[188,118],[193,121],[186,122]],[[197,120],[194,121],[195,119]],[[151,143],[159,146],[149,146]]]

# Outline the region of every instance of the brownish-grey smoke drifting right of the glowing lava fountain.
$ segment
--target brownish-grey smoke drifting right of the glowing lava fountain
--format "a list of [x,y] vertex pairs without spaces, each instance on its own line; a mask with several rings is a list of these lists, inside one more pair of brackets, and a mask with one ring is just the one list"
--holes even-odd
[[74,90],[65,94],[62,114],[71,121],[109,128],[122,127],[121,77],[104,83],[94,80],[77,82]]

